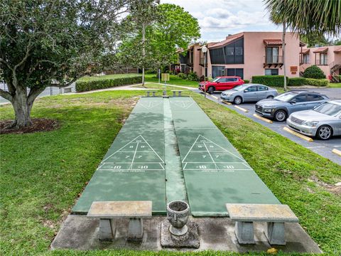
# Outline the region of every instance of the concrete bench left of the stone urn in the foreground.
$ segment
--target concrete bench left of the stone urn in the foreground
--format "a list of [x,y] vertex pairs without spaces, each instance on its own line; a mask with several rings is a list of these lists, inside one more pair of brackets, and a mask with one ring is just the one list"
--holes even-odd
[[143,218],[151,218],[151,201],[92,202],[87,217],[99,218],[99,240],[112,241],[117,218],[129,218],[129,241],[141,241],[144,236]]

